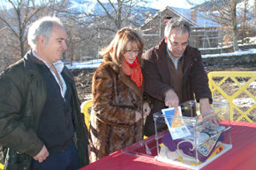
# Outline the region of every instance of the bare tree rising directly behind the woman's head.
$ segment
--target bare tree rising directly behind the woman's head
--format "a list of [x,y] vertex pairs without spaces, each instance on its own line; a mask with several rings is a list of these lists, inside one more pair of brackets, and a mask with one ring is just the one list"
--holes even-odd
[[97,0],[100,12],[86,12],[86,15],[94,20],[95,43],[98,49],[105,46],[113,38],[114,34],[124,26],[139,27],[145,21],[147,10],[141,6],[147,4],[147,0]]

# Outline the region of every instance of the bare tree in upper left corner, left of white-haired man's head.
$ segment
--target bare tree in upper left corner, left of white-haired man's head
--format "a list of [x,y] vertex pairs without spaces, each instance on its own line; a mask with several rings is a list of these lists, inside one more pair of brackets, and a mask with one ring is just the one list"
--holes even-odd
[[[19,56],[23,57],[27,50],[26,27],[34,19],[42,15],[49,14],[49,4],[54,1],[36,0],[2,0],[0,20],[11,32],[10,48],[19,51]],[[8,37],[10,38],[10,37]]]

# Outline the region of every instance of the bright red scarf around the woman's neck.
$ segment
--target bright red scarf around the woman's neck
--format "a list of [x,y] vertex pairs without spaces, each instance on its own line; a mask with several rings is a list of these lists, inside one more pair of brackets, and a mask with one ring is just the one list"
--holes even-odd
[[124,59],[124,64],[122,66],[122,69],[124,71],[124,74],[127,75],[127,76],[130,76],[132,81],[140,89],[140,87],[142,85],[142,81],[143,81],[143,76],[142,76],[141,68],[140,68],[140,65],[139,65],[138,57],[136,57],[135,61],[132,64],[128,63]]

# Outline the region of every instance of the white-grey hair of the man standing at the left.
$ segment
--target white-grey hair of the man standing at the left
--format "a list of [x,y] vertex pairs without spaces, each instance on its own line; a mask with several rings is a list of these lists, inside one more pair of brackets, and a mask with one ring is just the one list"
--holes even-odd
[[39,35],[43,35],[46,38],[46,43],[48,43],[54,24],[64,27],[61,20],[56,17],[47,16],[34,21],[34,23],[29,26],[27,33],[29,46],[33,49],[35,48],[35,43],[38,41]]

